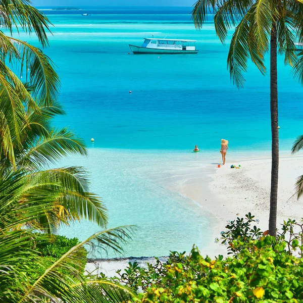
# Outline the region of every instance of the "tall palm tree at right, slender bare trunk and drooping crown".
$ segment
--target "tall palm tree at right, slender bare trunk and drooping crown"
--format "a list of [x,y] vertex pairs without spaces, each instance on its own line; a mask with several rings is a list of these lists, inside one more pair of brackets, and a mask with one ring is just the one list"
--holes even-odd
[[298,56],[295,41],[303,42],[303,1],[301,0],[198,0],[192,11],[196,28],[200,29],[209,13],[214,14],[216,33],[222,43],[228,30],[235,27],[227,66],[231,79],[242,87],[250,58],[265,74],[265,54],[270,53],[270,112],[272,132],[272,171],[269,234],[276,236],[279,132],[277,53],[284,55],[285,65],[292,67],[295,77],[303,81],[303,53]]

